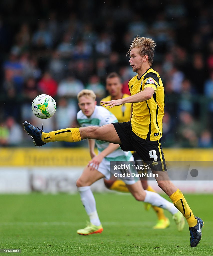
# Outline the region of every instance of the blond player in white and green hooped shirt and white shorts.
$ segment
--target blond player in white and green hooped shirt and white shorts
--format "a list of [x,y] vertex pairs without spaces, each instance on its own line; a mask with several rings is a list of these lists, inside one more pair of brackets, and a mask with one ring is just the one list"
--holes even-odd
[[[78,93],[77,98],[81,109],[77,114],[77,120],[81,127],[102,126],[117,122],[116,117],[110,111],[96,105],[96,95],[93,91],[82,90]],[[77,230],[77,233],[81,235],[101,233],[103,231],[90,186],[103,177],[110,179],[110,161],[134,161],[131,152],[123,152],[118,144],[90,139],[88,141],[92,160],[76,181],[82,204],[90,219],[86,228]],[[94,153],[95,143],[98,148],[98,155]],[[144,190],[140,181],[125,180],[124,182],[136,200],[167,209],[172,215],[176,215],[175,222],[178,230],[181,231],[183,229],[183,215],[171,202],[157,193]]]

